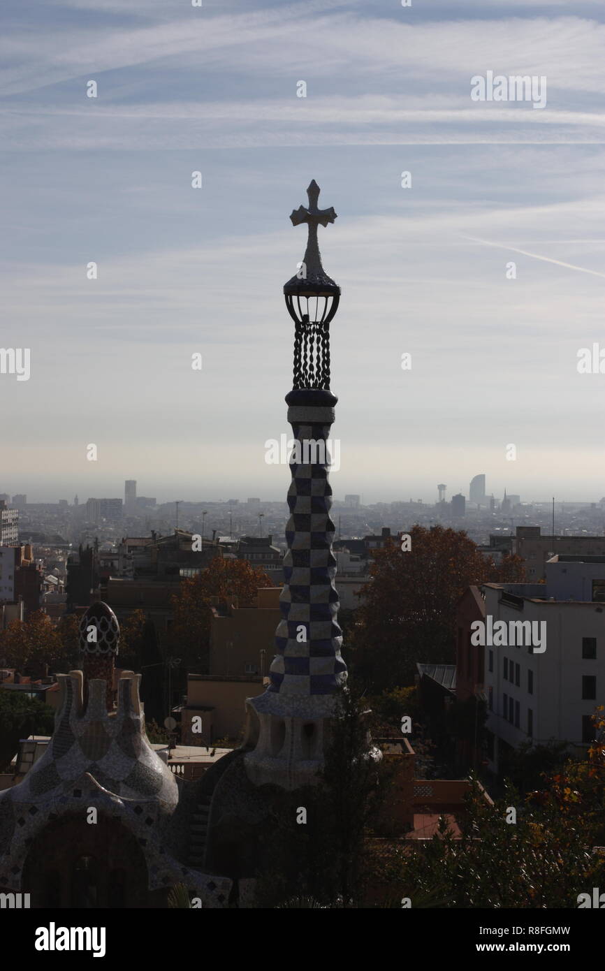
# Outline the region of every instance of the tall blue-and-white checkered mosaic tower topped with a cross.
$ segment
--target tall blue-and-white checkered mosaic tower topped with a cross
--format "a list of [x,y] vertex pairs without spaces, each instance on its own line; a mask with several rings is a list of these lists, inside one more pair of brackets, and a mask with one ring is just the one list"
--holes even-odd
[[286,308],[294,320],[293,387],[286,395],[293,449],[287,492],[289,519],[282,620],[267,690],[247,702],[249,778],[256,784],[295,788],[313,782],[323,764],[325,720],[335,709],[335,692],[347,679],[341,657],[338,592],[334,586],[335,526],[330,519],[330,429],[338,398],[330,391],[329,323],[340,287],[321,265],[318,226],[334,222],[332,208],[320,210],[319,185],[307,189],[309,206],[290,216],[306,222],[302,263],[286,283]]

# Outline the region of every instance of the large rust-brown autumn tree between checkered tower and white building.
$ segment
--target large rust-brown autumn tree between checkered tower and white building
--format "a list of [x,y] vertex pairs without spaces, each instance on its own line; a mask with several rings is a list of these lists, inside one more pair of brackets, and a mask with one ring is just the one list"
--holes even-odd
[[454,662],[456,603],[467,586],[523,580],[520,557],[497,565],[463,531],[414,526],[411,549],[375,554],[349,644],[353,676],[372,692],[411,685],[417,661]]

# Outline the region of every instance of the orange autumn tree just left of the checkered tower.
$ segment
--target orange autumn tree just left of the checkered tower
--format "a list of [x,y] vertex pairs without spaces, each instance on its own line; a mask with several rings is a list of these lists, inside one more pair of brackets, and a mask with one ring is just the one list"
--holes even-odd
[[216,556],[205,570],[184,580],[172,598],[169,651],[181,657],[185,666],[207,671],[212,605],[251,606],[261,586],[272,586],[264,570],[247,560]]

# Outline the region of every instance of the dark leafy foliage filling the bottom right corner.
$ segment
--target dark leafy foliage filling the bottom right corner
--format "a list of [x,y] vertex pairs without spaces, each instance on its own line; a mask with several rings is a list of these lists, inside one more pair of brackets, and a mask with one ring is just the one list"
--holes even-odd
[[[522,798],[509,786],[489,805],[473,780],[456,839],[445,820],[413,854],[393,848],[397,898],[432,895],[440,907],[577,908],[605,884],[605,718],[583,759],[568,758]],[[511,810],[515,811],[515,815]],[[394,888],[393,888],[394,889]]]

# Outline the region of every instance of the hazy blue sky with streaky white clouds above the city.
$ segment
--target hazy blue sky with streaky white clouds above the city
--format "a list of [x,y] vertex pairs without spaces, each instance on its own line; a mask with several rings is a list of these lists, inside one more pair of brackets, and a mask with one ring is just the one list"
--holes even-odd
[[[0,373],[0,492],[285,498],[266,443],[290,431],[289,214],[316,179],[335,495],[468,496],[478,473],[496,497],[605,495],[605,373],[578,372],[605,357],[600,0],[1,17],[0,344],[30,375]],[[489,71],[545,78],[546,106],[473,100]]]

